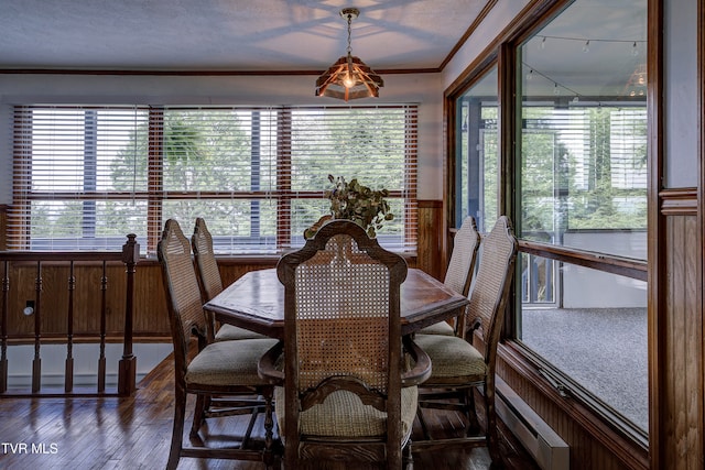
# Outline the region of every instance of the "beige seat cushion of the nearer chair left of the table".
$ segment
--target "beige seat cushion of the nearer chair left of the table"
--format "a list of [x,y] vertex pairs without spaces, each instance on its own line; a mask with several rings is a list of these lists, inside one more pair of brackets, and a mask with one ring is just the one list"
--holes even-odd
[[188,364],[186,384],[264,385],[265,382],[257,373],[257,364],[276,341],[268,338],[210,343]]

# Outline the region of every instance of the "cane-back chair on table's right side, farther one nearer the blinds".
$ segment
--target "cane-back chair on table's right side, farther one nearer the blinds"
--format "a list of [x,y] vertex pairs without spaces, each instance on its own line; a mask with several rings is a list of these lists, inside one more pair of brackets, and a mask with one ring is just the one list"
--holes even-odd
[[[480,247],[480,234],[475,218],[467,217],[453,238],[453,251],[443,283],[458,294],[467,296],[475,272],[475,261]],[[465,329],[465,315],[455,318],[455,324],[440,321],[423,328],[421,335],[462,335]]]

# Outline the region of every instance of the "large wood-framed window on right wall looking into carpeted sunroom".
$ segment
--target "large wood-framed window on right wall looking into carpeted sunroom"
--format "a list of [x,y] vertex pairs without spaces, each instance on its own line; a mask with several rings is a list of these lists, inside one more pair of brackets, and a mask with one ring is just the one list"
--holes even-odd
[[455,223],[469,215],[486,232],[512,210],[506,335],[550,383],[647,444],[647,1],[564,3],[452,92]]

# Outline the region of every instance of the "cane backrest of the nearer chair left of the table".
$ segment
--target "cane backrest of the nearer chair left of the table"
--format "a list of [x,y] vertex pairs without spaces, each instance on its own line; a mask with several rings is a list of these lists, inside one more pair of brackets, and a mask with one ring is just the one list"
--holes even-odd
[[[188,342],[193,335],[203,347],[207,335],[206,317],[198,280],[191,258],[191,244],[178,222],[169,219],[156,245],[162,266],[162,278],[174,341],[174,362],[177,379],[183,378],[188,364]],[[180,375],[181,374],[181,375]]]

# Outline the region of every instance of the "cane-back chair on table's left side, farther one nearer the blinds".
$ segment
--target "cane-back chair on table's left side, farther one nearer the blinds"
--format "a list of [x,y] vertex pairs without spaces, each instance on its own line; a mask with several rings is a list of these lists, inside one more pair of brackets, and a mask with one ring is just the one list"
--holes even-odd
[[[206,227],[206,221],[198,217],[194,226],[194,233],[191,236],[191,245],[194,250],[194,259],[198,271],[198,281],[203,303],[210,300],[223,292],[223,280],[218,270],[218,262],[213,250],[213,236]],[[216,325],[213,315],[206,311],[208,326],[212,328],[209,335],[213,335],[215,341],[227,341],[231,339],[252,339],[267,338],[254,331],[236,327],[235,325]]]

